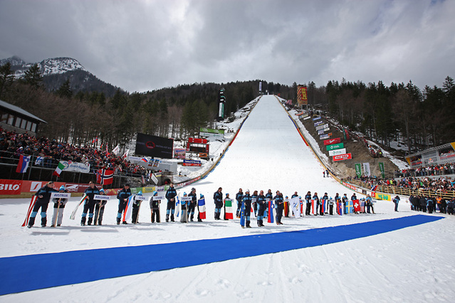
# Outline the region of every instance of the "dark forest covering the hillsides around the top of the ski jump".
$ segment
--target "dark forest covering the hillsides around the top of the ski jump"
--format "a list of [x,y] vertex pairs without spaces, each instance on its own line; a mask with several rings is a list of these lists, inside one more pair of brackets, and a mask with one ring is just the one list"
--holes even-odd
[[[235,83],[194,83],[149,92],[115,93],[71,90],[70,78],[49,91],[33,66],[21,80],[14,80],[9,63],[0,66],[0,100],[22,107],[46,120],[40,135],[63,142],[90,145],[93,138],[113,148],[125,146],[136,132],[187,139],[199,127],[213,127],[219,90],[226,96],[225,115],[244,107],[263,90],[296,102],[297,83],[282,85],[265,80]],[[441,87],[409,83],[328,81],[308,87],[308,105],[352,130],[363,132],[389,147],[404,142],[409,152],[455,141],[455,84],[447,77]],[[229,118],[228,118],[229,119]]]

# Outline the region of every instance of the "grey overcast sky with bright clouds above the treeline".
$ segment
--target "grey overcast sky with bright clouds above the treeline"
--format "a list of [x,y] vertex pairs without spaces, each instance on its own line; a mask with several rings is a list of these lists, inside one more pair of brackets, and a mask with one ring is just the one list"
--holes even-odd
[[455,78],[455,1],[0,0],[0,58],[78,60],[129,92]]

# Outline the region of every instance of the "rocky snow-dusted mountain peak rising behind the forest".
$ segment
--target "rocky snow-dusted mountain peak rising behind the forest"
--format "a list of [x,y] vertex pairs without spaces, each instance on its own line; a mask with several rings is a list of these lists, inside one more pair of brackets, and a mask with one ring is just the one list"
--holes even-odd
[[[0,65],[11,63],[11,70],[14,71],[14,77],[20,79],[28,68],[35,63],[26,63],[17,56],[1,59]],[[47,90],[58,90],[59,87],[70,79],[70,88],[73,93],[76,92],[104,92],[107,97],[115,94],[119,87],[96,78],[95,75],[86,70],[78,60],[73,58],[49,58],[38,63],[41,75],[43,75],[43,85]]]

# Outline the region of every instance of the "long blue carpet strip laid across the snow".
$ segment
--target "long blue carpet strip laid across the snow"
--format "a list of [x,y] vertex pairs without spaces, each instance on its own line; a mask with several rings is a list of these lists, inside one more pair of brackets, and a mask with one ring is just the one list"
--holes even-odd
[[417,215],[284,233],[1,257],[0,295],[337,243],[439,219]]

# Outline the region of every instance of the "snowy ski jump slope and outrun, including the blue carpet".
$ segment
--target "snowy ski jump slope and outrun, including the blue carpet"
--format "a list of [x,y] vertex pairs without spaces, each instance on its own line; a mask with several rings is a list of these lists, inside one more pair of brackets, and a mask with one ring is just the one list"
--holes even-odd
[[[283,218],[241,228],[214,220],[213,193],[352,191],[333,178],[307,146],[278,98],[264,95],[209,174],[179,188],[206,196],[204,222],[116,225],[117,202],[102,226],[68,216],[58,228],[21,228],[28,199],[1,203],[0,302],[408,302],[449,301],[455,220],[414,216],[404,202],[378,201],[375,214]],[[161,205],[163,220],[166,202]],[[48,209],[48,216],[51,213]],[[78,213],[80,218],[80,213]],[[439,230],[443,237],[436,237]],[[419,240],[417,240],[419,239]],[[437,253],[436,253],[437,252]],[[361,286],[360,286],[361,285]]]

